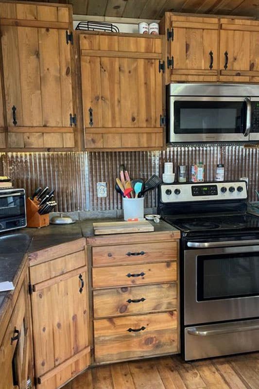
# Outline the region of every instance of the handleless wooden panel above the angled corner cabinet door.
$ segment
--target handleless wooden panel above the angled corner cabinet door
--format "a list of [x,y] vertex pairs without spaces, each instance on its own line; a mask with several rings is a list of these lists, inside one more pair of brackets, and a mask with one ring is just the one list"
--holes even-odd
[[77,251],[63,257],[43,262],[30,267],[30,280],[32,284],[50,280],[61,274],[86,265],[85,250]]

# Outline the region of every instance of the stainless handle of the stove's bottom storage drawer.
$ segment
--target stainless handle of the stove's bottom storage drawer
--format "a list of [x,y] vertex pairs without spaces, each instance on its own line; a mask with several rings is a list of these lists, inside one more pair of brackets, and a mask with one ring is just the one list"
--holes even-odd
[[212,335],[222,335],[222,334],[230,334],[233,332],[242,332],[242,331],[255,331],[259,330],[259,324],[243,324],[243,325],[235,325],[235,326],[219,326],[218,328],[214,326],[214,329],[206,330],[206,328],[202,327],[194,327],[187,330],[189,335],[194,336],[212,336]]

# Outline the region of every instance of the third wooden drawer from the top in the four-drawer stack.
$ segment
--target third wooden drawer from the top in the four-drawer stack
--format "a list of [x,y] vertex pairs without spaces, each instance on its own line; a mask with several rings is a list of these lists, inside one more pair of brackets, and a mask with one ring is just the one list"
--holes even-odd
[[177,308],[177,284],[100,289],[93,291],[94,318]]

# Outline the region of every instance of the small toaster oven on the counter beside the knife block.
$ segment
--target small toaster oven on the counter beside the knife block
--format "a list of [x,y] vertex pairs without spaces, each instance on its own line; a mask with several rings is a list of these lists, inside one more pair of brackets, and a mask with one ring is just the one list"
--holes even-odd
[[26,227],[24,189],[0,189],[0,232]]

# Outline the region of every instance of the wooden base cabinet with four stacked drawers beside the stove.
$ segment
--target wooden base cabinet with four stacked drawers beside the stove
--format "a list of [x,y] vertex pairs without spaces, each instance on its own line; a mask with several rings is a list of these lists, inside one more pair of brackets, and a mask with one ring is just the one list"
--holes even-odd
[[178,240],[147,232],[88,243],[95,363],[179,353]]

